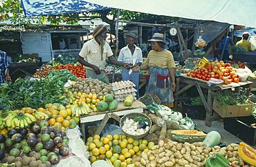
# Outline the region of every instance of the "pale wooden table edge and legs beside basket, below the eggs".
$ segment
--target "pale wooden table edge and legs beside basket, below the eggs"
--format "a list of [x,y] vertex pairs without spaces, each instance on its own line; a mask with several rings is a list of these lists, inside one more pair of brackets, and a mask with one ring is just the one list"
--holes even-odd
[[81,126],[82,137],[83,137],[84,141],[86,139],[86,135],[85,135],[85,125],[86,125],[86,123],[102,120],[102,122],[100,123],[100,126],[98,127],[98,129],[95,132],[95,135],[100,135],[104,126],[107,124],[107,121],[109,120],[109,118],[113,118],[116,121],[120,121],[119,116],[127,115],[131,112],[142,113],[143,108],[120,110],[120,111],[115,111],[115,112],[111,112],[111,111],[98,112],[97,114],[93,114],[93,115],[91,114],[91,115],[86,115],[86,116],[80,117],[80,126]]

